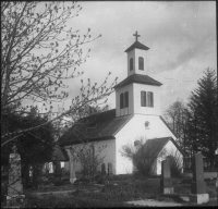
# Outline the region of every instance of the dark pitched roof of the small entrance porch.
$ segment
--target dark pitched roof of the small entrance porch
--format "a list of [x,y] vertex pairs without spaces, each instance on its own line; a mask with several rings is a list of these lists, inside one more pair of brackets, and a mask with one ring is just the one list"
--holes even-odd
[[184,156],[183,150],[172,137],[162,137],[146,140],[146,143],[143,145],[145,156],[147,158],[156,158],[169,140],[171,140],[179,149],[179,151]]

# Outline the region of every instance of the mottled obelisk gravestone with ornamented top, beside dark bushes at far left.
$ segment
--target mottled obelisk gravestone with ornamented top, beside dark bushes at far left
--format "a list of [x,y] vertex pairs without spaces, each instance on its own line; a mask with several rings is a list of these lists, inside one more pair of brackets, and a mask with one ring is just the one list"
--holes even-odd
[[9,187],[7,195],[7,206],[22,206],[24,195],[22,176],[21,176],[21,157],[16,152],[16,147],[13,146],[13,153],[10,155],[9,159]]

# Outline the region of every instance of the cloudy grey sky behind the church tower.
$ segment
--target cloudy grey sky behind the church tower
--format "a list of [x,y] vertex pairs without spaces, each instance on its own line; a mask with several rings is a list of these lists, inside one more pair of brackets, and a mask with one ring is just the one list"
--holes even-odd
[[[197,87],[205,69],[217,71],[216,1],[81,1],[80,15],[68,23],[83,35],[90,28],[93,37],[101,37],[83,47],[90,57],[80,66],[81,77],[102,83],[118,83],[128,76],[128,56],[124,52],[134,41],[147,46],[147,75],[162,83],[161,112],[177,99],[184,102]],[[81,78],[70,83],[71,100],[81,87]],[[116,108],[116,94],[108,98]]]

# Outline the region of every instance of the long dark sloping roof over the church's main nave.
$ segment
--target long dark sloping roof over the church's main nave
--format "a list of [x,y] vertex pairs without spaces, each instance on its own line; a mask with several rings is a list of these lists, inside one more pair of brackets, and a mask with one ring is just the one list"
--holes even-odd
[[83,119],[63,134],[58,143],[60,146],[81,143],[116,139],[117,132],[130,121],[133,115],[116,118],[116,109]]

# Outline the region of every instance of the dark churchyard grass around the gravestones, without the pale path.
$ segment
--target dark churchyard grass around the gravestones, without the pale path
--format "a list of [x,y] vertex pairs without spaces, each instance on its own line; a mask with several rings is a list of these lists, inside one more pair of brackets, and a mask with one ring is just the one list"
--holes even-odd
[[[160,193],[159,179],[140,179],[119,176],[111,180],[109,185],[93,185],[88,183],[80,183],[80,185],[66,184],[64,186],[47,186],[39,187],[37,192],[57,192],[72,190],[69,196],[48,195],[40,198],[33,196],[33,193],[27,195],[28,208],[72,208],[72,207],[131,207],[124,201],[136,199],[156,199],[160,201],[174,201],[184,206],[181,196],[189,196],[191,185],[189,181],[173,179],[174,185],[173,195],[162,195]],[[207,193],[210,201],[204,206],[217,206],[217,200],[211,199],[217,197],[217,187],[208,184]],[[190,202],[189,202],[190,206]],[[197,206],[192,204],[191,206]],[[203,205],[201,205],[203,206]]]

